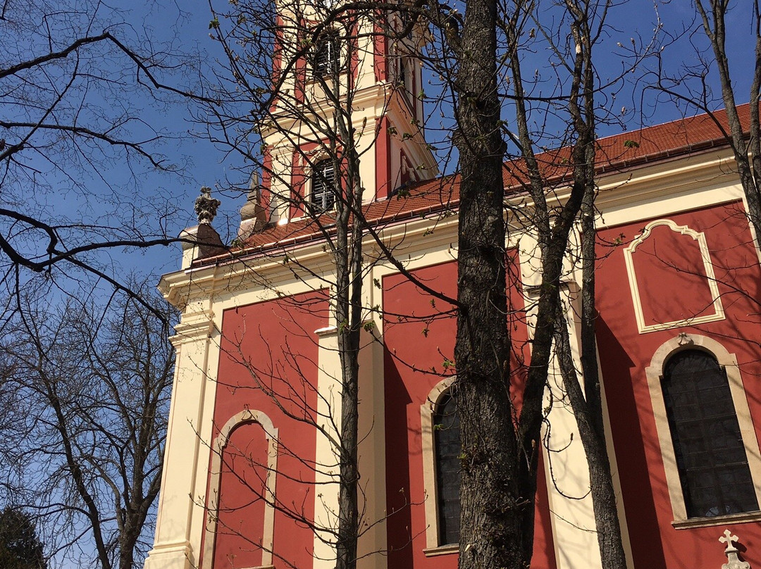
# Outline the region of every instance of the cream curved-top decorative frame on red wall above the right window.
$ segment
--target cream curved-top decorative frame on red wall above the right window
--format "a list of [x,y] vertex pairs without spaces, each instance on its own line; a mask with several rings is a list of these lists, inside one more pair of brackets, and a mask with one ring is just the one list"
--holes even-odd
[[[637,284],[637,275],[634,269],[633,255],[637,250],[637,247],[644,243],[644,241],[650,237],[654,227],[659,225],[665,225],[670,230],[676,231],[682,235],[689,235],[693,240],[698,242],[700,247],[700,256],[702,257],[703,266],[705,267],[705,275],[708,278],[708,288],[711,290],[711,296],[713,298],[713,314],[705,314],[704,316],[695,316],[694,318],[686,318],[682,320],[674,320],[673,322],[664,322],[660,324],[645,324],[645,316],[642,313],[642,300],[639,296],[639,286]],[[715,322],[716,320],[724,319],[724,307],[721,305],[721,296],[718,292],[718,284],[716,283],[716,277],[713,271],[713,265],[711,262],[711,256],[708,252],[708,245],[705,243],[705,234],[694,229],[690,229],[686,225],[677,225],[670,219],[657,219],[651,221],[645,225],[645,230],[642,234],[629,243],[629,246],[623,251],[624,259],[626,259],[626,272],[629,276],[629,288],[632,291],[632,301],[634,302],[634,313],[637,319],[637,328],[639,333],[655,332],[656,330],[667,330],[670,328],[678,328],[680,326],[693,326],[695,324],[702,324],[707,322]]]

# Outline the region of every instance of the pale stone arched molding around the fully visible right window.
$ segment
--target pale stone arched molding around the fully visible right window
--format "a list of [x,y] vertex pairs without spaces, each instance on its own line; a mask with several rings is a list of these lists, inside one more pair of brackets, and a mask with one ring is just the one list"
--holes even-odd
[[673,511],[674,520],[672,525],[676,528],[682,528],[715,526],[726,523],[761,520],[761,512],[737,513],[692,519],[688,519],[687,517],[679,469],[677,468],[677,457],[671,439],[671,431],[666,413],[661,380],[664,374],[664,364],[667,359],[679,351],[689,349],[699,349],[712,354],[712,356],[718,361],[718,364],[724,367],[724,371],[727,374],[732,402],[734,404],[734,411],[737,414],[737,423],[740,426],[740,435],[743,438],[743,447],[745,447],[748,466],[750,467],[750,475],[753,477],[753,488],[756,492],[756,500],[761,504],[761,453],[759,453],[759,444],[756,437],[756,431],[753,428],[753,420],[750,417],[750,408],[748,407],[743,380],[742,377],[740,377],[740,367],[737,366],[737,358],[735,358],[734,354],[731,354],[726,348],[724,348],[723,345],[713,339],[703,335],[682,333],[676,338],[670,339],[668,342],[661,345],[661,347],[655,351],[650,365],[645,368],[655,426],[658,431],[658,442],[661,446],[661,458],[664,463],[666,484],[671,501],[671,509]]

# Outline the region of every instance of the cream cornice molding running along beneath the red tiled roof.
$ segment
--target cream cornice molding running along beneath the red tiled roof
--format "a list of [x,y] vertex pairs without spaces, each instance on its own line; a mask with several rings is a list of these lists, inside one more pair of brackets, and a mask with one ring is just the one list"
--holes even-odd
[[[622,209],[657,195],[680,195],[702,189],[726,189],[725,195],[717,195],[710,202],[714,205],[740,199],[742,193],[735,186],[735,174],[728,168],[731,155],[724,149],[713,149],[709,157],[706,153],[701,160],[695,155],[674,158],[671,161],[644,164],[627,172],[605,173],[600,176],[600,195],[597,207],[603,212],[598,227],[607,227],[605,212]],[[707,187],[708,186],[708,187]],[[562,203],[570,192],[568,186],[558,187],[548,199],[550,207]],[[666,194],[667,192],[667,194]],[[737,194],[737,195],[735,195]],[[525,229],[531,213],[531,202],[525,194],[507,195],[510,234],[508,244],[514,244]],[[684,200],[683,209],[694,208],[694,200]],[[682,206],[679,206],[682,208]],[[634,221],[634,218],[632,218]],[[407,262],[428,251],[442,247],[452,250],[453,258],[457,249],[457,213],[451,210],[431,211],[413,218],[391,220],[376,228],[377,234],[390,250],[398,253],[397,259]],[[618,224],[611,223],[613,224]],[[380,258],[380,247],[375,240],[365,237],[365,257],[377,265],[388,265]],[[286,262],[286,259],[288,261]],[[304,267],[302,271],[300,267]],[[333,259],[327,250],[323,237],[298,242],[285,240],[266,251],[244,251],[243,253],[220,256],[214,264],[200,265],[185,271],[173,272],[161,278],[159,289],[167,300],[183,308],[193,300],[205,300],[216,293],[247,290],[253,287],[278,288],[295,281],[320,278],[333,272]],[[324,283],[319,288],[323,288]],[[275,293],[276,294],[276,293]]]

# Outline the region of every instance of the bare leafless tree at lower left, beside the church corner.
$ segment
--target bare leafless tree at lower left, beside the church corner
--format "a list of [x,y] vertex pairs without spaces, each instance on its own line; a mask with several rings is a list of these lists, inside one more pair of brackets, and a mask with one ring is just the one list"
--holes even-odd
[[150,542],[174,370],[174,313],[131,286],[142,302],[101,310],[27,295],[2,343],[0,395],[18,434],[4,438],[5,493],[54,558],[103,569],[137,567]]

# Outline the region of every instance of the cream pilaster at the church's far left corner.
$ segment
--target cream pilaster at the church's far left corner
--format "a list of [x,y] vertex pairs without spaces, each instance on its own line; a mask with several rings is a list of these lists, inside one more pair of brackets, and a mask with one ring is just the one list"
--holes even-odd
[[[209,437],[218,350],[212,344],[209,302],[186,307],[171,342],[177,350],[164,475],[159,494],[154,547],[145,569],[198,566],[209,470]],[[209,401],[207,401],[209,398]]]

